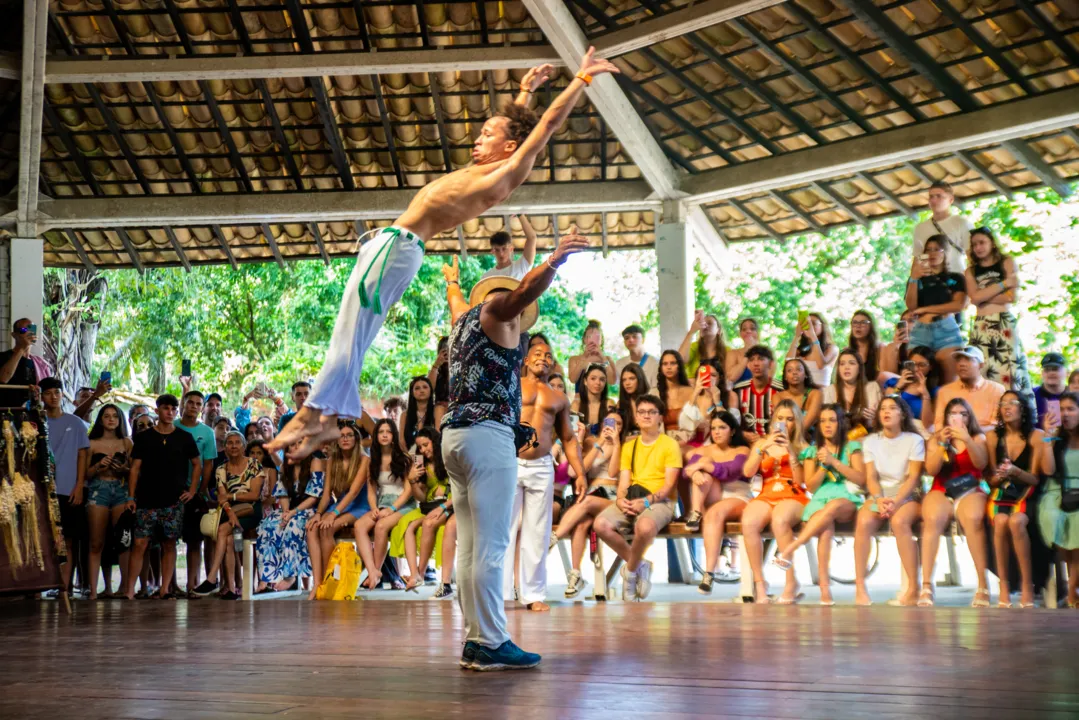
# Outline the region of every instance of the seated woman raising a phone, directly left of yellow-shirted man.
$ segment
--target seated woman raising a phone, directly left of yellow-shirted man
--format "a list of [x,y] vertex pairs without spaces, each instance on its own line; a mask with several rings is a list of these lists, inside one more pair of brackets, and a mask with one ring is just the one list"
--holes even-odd
[[[637,367],[637,365],[626,366]],[[623,371],[625,376],[625,370]],[[588,492],[577,502],[570,505],[558,521],[558,527],[551,532],[550,548],[559,541],[572,538],[570,559],[572,570],[566,580],[565,597],[575,598],[588,584],[581,574],[581,562],[585,557],[585,546],[592,529],[592,520],[614,502],[618,489],[618,464],[622,453],[623,432],[622,413],[612,409],[603,419],[603,427],[598,438],[586,445],[582,464],[588,471]],[[571,470],[572,477],[572,470]]]

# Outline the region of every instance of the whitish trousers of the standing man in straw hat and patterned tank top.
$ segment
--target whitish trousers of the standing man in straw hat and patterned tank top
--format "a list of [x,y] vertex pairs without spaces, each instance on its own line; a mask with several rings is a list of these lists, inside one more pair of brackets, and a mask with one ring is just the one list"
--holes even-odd
[[509,639],[502,572],[517,485],[514,431],[496,422],[449,427],[442,460],[457,516],[457,598],[465,639],[497,648]]

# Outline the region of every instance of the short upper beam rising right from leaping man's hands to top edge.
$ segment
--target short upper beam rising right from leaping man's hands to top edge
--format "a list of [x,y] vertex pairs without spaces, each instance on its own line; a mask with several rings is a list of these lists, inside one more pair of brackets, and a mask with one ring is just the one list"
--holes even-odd
[[603,57],[625,55],[657,42],[678,38],[735,17],[781,4],[783,0],[705,0],[692,5],[650,17],[636,25],[596,38],[596,50]]

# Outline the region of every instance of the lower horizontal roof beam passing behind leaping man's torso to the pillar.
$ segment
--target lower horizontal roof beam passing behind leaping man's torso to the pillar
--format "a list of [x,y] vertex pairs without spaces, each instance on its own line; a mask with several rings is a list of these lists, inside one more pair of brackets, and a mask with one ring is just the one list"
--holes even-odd
[[[395,218],[416,189],[359,192],[229,193],[42,199],[39,222],[50,228],[162,228],[263,222],[352,222]],[[642,180],[523,185],[486,213],[535,215],[651,210],[660,203]]]

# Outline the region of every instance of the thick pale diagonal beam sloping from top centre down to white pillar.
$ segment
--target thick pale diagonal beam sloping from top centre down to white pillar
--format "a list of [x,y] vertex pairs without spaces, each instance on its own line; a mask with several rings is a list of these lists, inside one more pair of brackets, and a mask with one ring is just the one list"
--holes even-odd
[[[570,9],[549,0],[524,0],[524,6],[570,71],[576,72],[589,43]],[[585,92],[656,194],[665,200],[680,196],[678,169],[644,126],[617,81],[611,76],[600,76]]]

